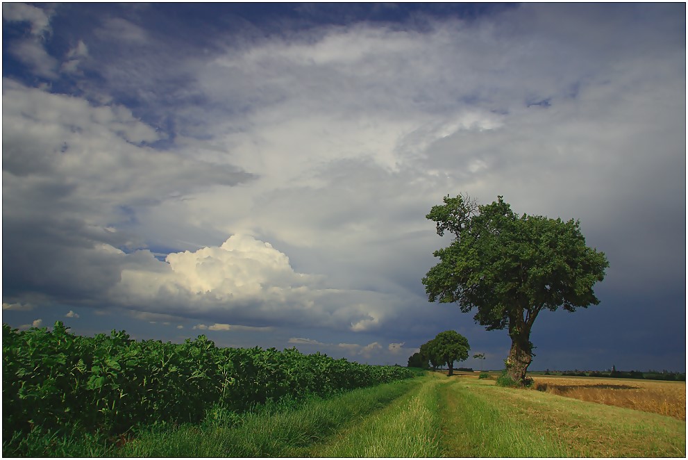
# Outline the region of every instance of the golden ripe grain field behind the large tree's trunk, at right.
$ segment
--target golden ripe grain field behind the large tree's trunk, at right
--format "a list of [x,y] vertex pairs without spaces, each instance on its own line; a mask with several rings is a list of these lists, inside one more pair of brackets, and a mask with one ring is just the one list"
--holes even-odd
[[685,381],[541,375],[533,381],[532,388],[538,391],[686,420]]

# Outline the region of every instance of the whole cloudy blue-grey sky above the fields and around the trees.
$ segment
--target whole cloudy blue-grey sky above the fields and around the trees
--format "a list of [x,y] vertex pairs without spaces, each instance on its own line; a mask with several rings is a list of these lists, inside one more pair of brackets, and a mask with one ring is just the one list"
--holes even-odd
[[610,262],[531,370],[685,372],[685,3],[2,8],[12,327],[500,369],[421,279],[430,208],[501,195]]

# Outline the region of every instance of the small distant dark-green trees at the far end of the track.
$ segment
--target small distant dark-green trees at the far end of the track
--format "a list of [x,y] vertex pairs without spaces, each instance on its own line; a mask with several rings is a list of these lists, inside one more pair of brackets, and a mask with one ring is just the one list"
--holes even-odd
[[432,366],[433,370],[436,370],[446,364],[449,369],[448,375],[453,375],[454,361],[468,359],[469,350],[471,347],[468,339],[457,331],[440,332],[433,340],[423,343],[419,352],[409,357],[408,366],[423,369]]

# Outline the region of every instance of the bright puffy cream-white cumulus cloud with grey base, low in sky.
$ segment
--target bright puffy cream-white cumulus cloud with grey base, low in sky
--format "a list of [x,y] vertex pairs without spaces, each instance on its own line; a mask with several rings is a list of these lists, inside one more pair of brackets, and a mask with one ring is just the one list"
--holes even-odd
[[[148,251],[120,254],[119,265],[112,302],[131,309],[143,304],[154,313],[231,318],[237,330],[303,324],[367,331],[385,315],[376,304],[389,297],[328,288],[320,275],[296,272],[270,243],[242,234],[219,246],[170,253],[165,261]],[[216,324],[218,330],[230,327]]]

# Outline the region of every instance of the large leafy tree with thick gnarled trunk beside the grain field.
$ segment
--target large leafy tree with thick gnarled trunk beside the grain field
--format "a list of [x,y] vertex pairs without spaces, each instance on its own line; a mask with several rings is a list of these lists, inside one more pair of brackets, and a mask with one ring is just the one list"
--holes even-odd
[[453,233],[435,251],[439,263],[423,278],[430,302],[455,302],[488,331],[507,329],[512,340],[507,374],[524,384],[532,361],[530,330],[544,309],[566,311],[599,304],[593,286],[609,266],[585,245],[580,222],[514,213],[502,197],[480,205],[444,197],[426,215],[437,234]]

